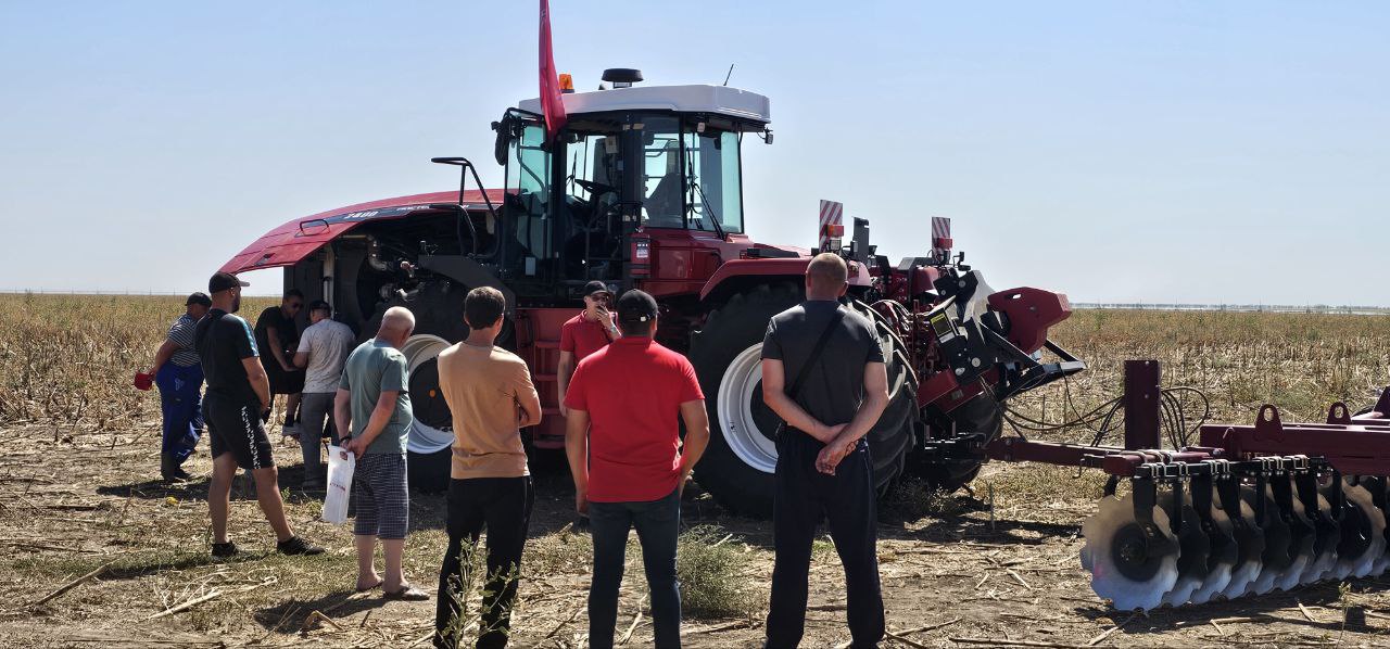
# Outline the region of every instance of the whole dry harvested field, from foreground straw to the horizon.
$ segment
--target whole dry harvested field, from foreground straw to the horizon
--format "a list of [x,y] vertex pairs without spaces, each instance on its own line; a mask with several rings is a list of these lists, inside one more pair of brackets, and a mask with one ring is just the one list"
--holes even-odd
[[[234,492],[234,536],[250,552],[211,561],[206,443],[189,464],[195,481],[160,484],[157,395],[129,388],[179,303],[0,296],[0,325],[10,332],[0,342],[0,645],[427,645],[435,603],[356,595],[349,529],[316,520],[317,495],[289,489],[286,500],[296,531],[324,543],[325,556],[274,554],[254,500]],[[247,300],[243,310],[264,304]],[[1329,402],[1366,404],[1390,382],[1384,317],[1079,311],[1054,334],[1093,370],[1016,404],[1052,422],[1118,395],[1120,361],[1130,357],[1162,361],[1166,385],[1205,391],[1218,421],[1252,421],[1266,402],[1286,420],[1318,420]],[[282,482],[297,485],[297,446],[284,442],[277,456]],[[1147,616],[1111,610],[1077,563],[1080,525],[1101,485],[1098,474],[1026,464],[991,464],[974,498],[930,498],[905,485],[881,513],[894,634],[885,645],[1390,643],[1390,578]],[[589,545],[571,528],[571,507],[569,477],[542,473],[514,646],[584,645]],[[413,495],[411,521],[406,574],[432,591],[445,543],[442,498]],[[726,516],[699,489],[687,491],[684,523],[687,645],[758,646],[770,527]],[[649,646],[641,574],[630,552],[619,638]],[[842,581],[833,546],[817,542],[803,646],[848,641]]]

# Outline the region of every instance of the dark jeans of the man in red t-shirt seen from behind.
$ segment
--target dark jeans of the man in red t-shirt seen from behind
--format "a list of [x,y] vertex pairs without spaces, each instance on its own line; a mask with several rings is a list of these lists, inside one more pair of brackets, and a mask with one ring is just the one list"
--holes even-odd
[[656,648],[681,646],[681,588],[676,582],[676,536],[681,524],[680,489],[645,503],[589,503],[594,584],[589,586],[589,646],[613,646],[617,588],[623,582],[627,531],[637,528],[646,586],[652,592]]

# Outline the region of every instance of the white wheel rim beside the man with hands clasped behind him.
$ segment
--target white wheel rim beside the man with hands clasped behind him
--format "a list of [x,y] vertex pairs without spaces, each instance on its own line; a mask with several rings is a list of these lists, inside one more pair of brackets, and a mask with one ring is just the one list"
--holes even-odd
[[770,474],[777,470],[777,443],[758,429],[752,409],[753,389],[763,379],[762,354],[763,343],[756,343],[728,364],[719,382],[716,414],[730,450],[744,464]]

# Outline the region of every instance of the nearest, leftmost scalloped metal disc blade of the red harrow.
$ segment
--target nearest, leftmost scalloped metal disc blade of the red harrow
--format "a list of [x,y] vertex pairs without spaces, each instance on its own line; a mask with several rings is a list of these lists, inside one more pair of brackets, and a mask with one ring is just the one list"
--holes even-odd
[[[1154,507],[1152,517],[1159,534],[1176,543],[1163,509]],[[1091,589],[1116,609],[1156,609],[1177,582],[1176,553],[1145,552],[1133,496],[1101,499],[1097,513],[1081,524],[1081,534],[1086,536],[1081,566],[1091,573]]]

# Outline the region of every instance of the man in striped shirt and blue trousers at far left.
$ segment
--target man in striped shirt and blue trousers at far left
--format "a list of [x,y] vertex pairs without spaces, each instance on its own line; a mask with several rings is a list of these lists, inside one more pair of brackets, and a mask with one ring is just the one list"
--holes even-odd
[[150,377],[160,386],[164,439],[160,445],[160,477],[188,479],[183,461],[193,454],[203,434],[203,368],[193,349],[193,329],[213,306],[207,293],[193,293],[183,302],[185,313],[170,325],[164,345],[154,353]]

